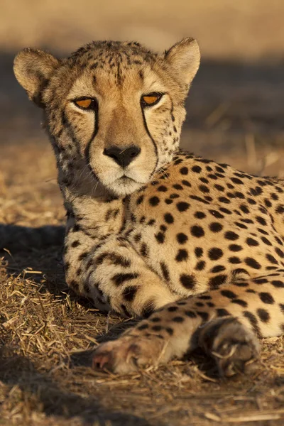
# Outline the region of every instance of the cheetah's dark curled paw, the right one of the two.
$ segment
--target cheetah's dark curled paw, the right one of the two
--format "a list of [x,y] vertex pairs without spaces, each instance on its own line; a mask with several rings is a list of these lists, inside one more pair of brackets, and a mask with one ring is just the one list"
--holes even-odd
[[200,346],[214,358],[223,377],[251,373],[260,351],[255,334],[236,318],[209,322],[200,333]]

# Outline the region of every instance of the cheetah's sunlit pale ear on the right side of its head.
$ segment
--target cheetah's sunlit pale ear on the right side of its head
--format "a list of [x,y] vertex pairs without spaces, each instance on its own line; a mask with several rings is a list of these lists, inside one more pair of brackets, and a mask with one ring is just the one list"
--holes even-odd
[[194,38],[187,37],[165,52],[165,60],[180,80],[190,84],[200,66],[200,48]]

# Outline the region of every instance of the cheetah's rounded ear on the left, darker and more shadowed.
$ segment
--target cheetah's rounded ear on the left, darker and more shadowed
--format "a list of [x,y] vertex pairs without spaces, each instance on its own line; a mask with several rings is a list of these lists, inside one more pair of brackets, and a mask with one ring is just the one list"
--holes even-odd
[[50,53],[30,48],[23,49],[14,59],[16,79],[38,107],[44,107],[40,95],[58,64],[59,61]]

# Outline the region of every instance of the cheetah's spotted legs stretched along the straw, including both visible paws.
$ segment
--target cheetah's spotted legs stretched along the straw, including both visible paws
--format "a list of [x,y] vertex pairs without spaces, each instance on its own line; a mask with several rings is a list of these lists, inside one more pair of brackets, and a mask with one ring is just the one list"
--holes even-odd
[[[130,373],[163,364],[201,346],[221,376],[249,371],[258,337],[283,333],[283,281],[268,276],[241,281],[163,307],[114,342],[99,346],[94,368]],[[281,287],[282,285],[282,287]]]

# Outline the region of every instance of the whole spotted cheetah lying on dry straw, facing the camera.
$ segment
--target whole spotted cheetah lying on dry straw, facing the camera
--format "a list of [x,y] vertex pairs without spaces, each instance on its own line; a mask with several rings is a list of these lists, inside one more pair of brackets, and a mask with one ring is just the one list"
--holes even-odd
[[96,41],[16,56],[57,160],[66,282],[142,318],[98,346],[94,368],[131,373],[200,346],[229,377],[284,332],[284,182],[180,151],[199,65],[193,38],[163,54]]

